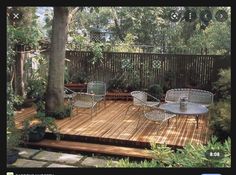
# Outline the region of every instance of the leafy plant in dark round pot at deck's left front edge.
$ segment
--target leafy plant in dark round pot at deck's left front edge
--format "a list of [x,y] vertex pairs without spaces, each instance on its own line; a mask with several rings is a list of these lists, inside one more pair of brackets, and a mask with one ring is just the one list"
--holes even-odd
[[44,138],[46,129],[54,133],[57,139],[60,138],[55,119],[48,117],[43,112],[38,112],[36,115],[24,121],[24,137],[26,141],[37,142]]

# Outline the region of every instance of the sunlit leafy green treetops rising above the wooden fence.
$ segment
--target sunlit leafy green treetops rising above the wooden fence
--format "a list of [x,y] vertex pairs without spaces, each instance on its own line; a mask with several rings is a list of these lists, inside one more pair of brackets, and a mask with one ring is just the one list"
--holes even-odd
[[[171,10],[181,13],[185,10],[194,10],[199,16],[202,7],[98,7],[98,9],[98,12],[90,12],[87,8],[77,13],[70,32],[74,36],[90,40],[91,26],[108,30],[112,33],[109,42],[112,51],[115,52],[200,54],[201,48],[208,48],[208,54],[230,53],[231,9],[229,7],[206,8],[212,14],[218,10],[225,10],[229,18],[223,23],[215,18],[209,23],[204,23],[199,18],[192,23],[185,20],[173,23],[169,20]],[[82,32],[78,33],[78,30]],[[72,35],[73,38],[74,36]],[[85,43],[79,42],[82,45]],[[82,48],[86,47],[82,46]]]

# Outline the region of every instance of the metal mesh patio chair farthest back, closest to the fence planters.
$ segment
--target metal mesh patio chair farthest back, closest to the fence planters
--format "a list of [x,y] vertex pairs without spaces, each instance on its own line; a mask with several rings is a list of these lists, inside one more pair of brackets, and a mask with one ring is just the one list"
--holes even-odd
[[96,102],[104,101],[106,105],[106,83],[102,81],[91,81],[87,84],[87,93],[94,94]]

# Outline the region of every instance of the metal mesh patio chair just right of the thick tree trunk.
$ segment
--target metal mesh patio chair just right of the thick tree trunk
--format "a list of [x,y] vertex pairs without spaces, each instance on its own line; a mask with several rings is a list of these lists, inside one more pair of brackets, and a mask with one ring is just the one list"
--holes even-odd
[[72,106],[73,108],[76,108],[76,114],[78,114],[79,108],[87,108],[87,109],[90,108],[91,118],[93,117],[94,111],[97,114],[97,109],[96,109],[97,101],[95,101],[94,97],[95,97],[94,94],[78,92],[76,96],[72,99]]

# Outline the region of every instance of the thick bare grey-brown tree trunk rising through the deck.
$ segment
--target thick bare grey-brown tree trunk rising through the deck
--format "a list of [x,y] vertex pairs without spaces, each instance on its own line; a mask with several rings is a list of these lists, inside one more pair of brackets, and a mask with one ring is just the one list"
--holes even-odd
[[46,93],[47,114],[62,110],[64,107],[64,66],[68,15],[68,8],[54,7]]

